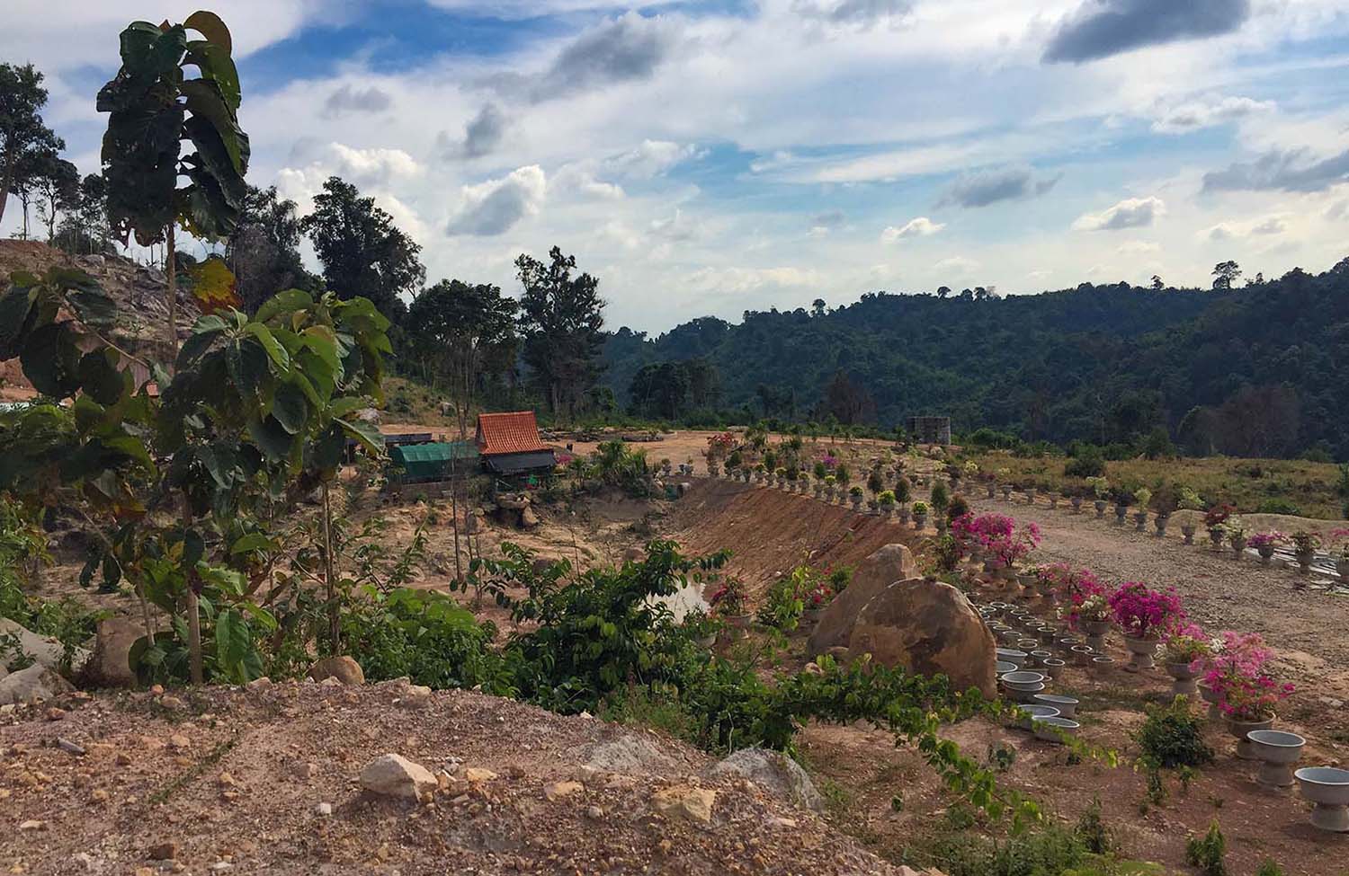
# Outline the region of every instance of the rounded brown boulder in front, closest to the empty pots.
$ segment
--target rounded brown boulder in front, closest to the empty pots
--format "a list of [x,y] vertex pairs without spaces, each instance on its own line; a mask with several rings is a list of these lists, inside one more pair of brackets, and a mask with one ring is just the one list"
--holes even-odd
[[920,675],[943,674],[958,690],[997,694],[997,644],[965,594],[950,584],[911,578],[876,594],[857,616],[849,652]]

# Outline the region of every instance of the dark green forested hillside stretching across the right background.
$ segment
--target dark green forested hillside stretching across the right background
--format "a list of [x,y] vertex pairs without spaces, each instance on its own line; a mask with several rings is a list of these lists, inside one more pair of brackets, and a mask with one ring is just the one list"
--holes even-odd
[[950,414],[958,430],[1097,443],[1160,426],[1193,453],[1345,458],[1346,356],[1349,259],[1232,290],[871,292],[832,310],[746,311],[738,325],[695,319],[657,338],[621,329],[604,380],[660,416],[889,426]]

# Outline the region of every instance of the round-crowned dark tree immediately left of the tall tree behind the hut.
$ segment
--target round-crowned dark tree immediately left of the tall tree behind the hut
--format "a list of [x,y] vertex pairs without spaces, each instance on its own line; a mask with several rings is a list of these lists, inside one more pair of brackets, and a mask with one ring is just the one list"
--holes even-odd
[[459,408],[459,434],[468,431],[480,379],[509,369],[515,357],[519,305],[500,287],[441,280],[413,299],[407,333],[420,356],[449,381]]

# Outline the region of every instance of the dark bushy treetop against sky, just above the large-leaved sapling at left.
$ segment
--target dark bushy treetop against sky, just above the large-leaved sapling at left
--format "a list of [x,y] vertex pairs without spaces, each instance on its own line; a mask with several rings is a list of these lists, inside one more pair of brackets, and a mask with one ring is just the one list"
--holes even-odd
[[418,259],[421,247],[375,206],[374,198],[363,198],[356,186],[329,177],[299,229],[314,244],[328,288],[340,298],[368,298],[391,322],[403,322],[407,305],[402,296],[421,288],[426,268]]

